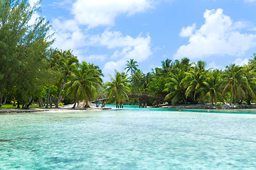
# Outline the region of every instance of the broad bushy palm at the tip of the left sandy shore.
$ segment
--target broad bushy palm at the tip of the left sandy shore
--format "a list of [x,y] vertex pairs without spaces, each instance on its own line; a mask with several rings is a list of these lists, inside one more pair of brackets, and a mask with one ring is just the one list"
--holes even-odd
[[85,100],[86,106],[91,98],[97,95],[97,89],[102,84],[101,71],[95,69],[93,64],[82,62],[82,65],[75,67],[70,81],[65,84],[67,93],[74,98],[74,106],[78,101]]

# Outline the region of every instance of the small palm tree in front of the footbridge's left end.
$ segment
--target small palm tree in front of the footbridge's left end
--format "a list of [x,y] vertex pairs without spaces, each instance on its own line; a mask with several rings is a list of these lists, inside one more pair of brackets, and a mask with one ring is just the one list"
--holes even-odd
[[107,97],[112,98],[114,96],[116,100],[116,105],[120,107],[123,104],[124,100],[127,98],[127,92],[130,91],[127,75],[124,72],[119,73],[116,71],[115,77],[111,77],[111,81],[107,81],[105,83],[107,87],[105,92],[107,93]]

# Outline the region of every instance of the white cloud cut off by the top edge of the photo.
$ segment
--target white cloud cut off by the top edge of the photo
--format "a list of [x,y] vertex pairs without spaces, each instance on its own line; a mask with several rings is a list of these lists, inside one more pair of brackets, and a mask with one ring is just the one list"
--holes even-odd
[[114,18],[120,14],[128,16],[146,11],[150,0],[78,0],[73,4],[75,21],[89,28],[113,26]]

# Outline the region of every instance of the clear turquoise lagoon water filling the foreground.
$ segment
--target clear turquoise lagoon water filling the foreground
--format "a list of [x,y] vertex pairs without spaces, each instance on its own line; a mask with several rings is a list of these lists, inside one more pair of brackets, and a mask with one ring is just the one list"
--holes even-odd
[[256,115],[245,113],[2,114],[0,169],[256,169]]

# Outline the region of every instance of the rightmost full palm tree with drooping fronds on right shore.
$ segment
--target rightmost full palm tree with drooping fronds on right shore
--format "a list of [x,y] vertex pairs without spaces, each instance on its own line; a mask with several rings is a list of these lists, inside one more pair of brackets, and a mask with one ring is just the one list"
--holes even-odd
[[235,66],[235,64],[230,64],[230,66],[226,67],[223,74],[223,86],[223,95],[230,91],[230,105],[233,98],[242,100],[247,97],[247,91],[252,92],[250,84],[248,84],[245,77],[245,70],[242,67]]

